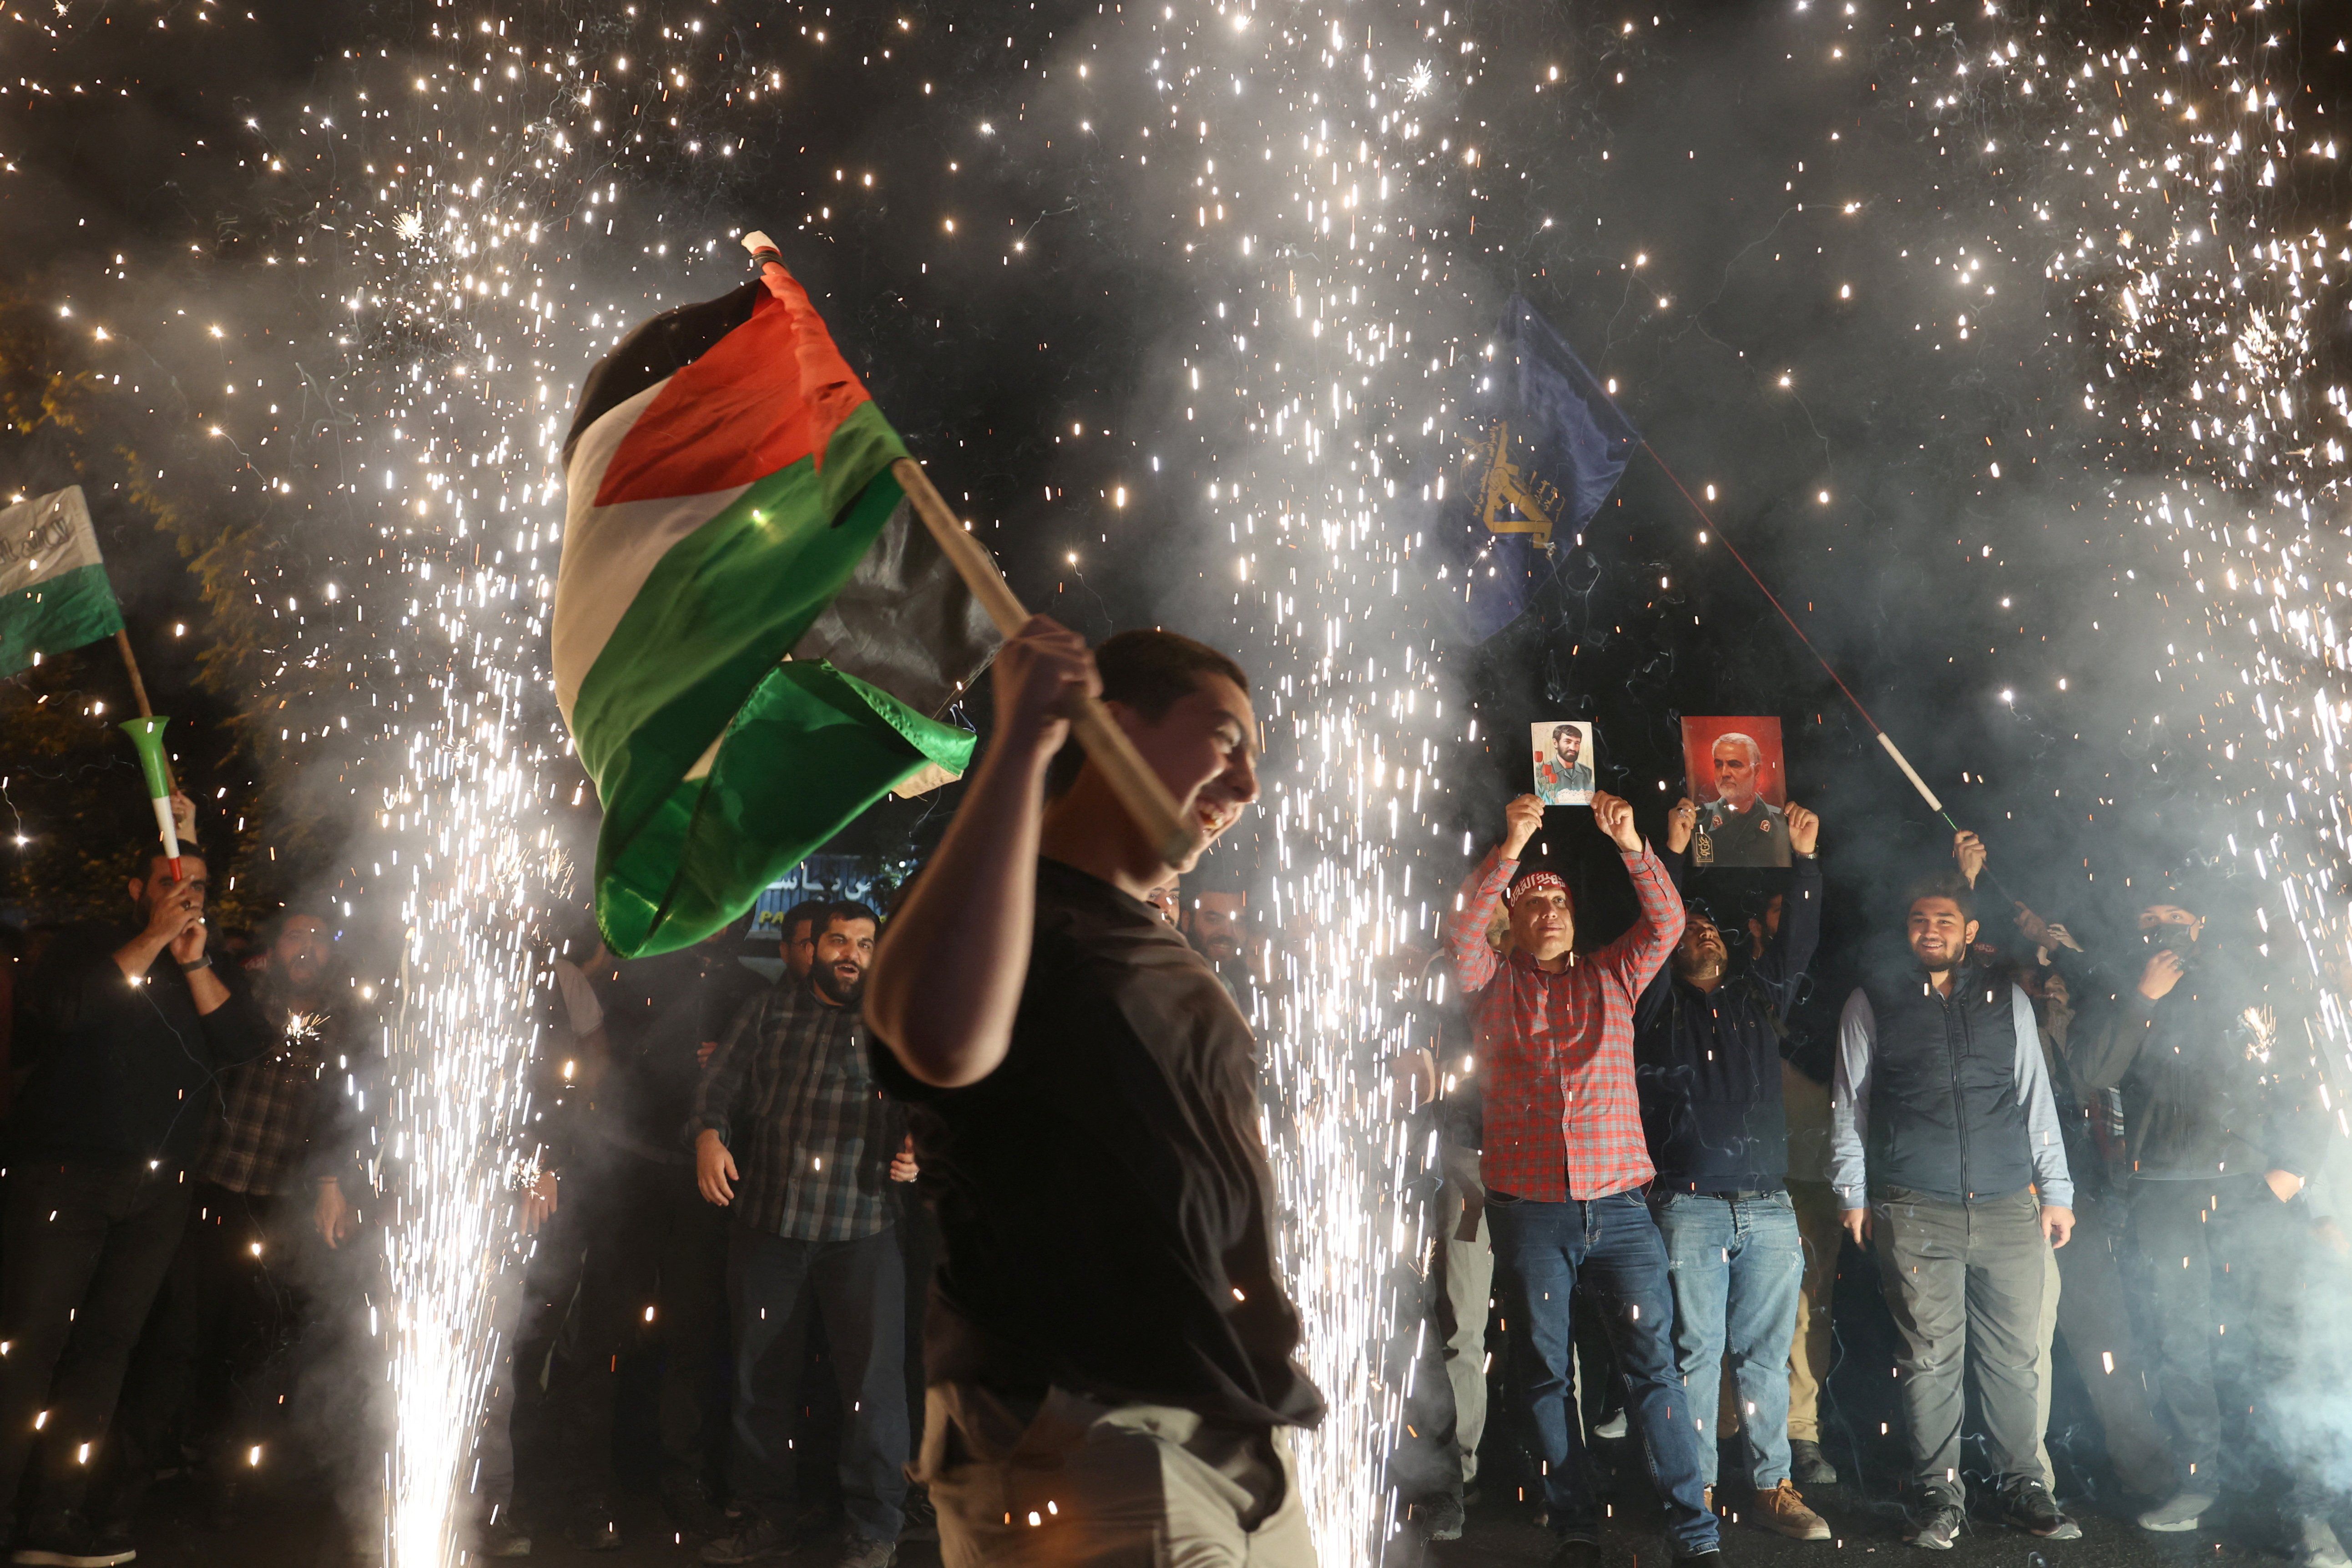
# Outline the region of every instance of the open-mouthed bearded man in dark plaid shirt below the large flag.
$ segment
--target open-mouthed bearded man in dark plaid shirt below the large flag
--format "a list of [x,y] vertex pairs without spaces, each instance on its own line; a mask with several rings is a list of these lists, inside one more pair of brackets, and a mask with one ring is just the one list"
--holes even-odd
[[880,919],[816,912],[816,961],[748,1004],[694,1100],[694,1178],[734,1215],[727,1305],[736,1345],[736,1497],[743,1528],[706,1563],[793,1549],[793,1415],[807,1319],[833,1342],[849,1521],[811,1568],[889,1568],[906,1523],[906,1262],[889,1182],[915,1180],[896,1110],[866,1067],[866,966]]

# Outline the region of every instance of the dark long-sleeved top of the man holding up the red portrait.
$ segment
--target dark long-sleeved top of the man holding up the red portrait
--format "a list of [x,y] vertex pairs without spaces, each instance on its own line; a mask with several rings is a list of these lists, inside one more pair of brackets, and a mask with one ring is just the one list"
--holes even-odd
[[[1682,856],[1665,856],[1682,886]],[[1743,931],[1726,931],[1738,947]],[[1780,936],[1752,964],[1733,959],[1703,992],[1675,961],[1635,1001],[1635,1081],[1661,1192],[1762,1192],[1788,1178],[1780,1037],[1797,983],[1820,945],[1820,860],[1797,856]]]

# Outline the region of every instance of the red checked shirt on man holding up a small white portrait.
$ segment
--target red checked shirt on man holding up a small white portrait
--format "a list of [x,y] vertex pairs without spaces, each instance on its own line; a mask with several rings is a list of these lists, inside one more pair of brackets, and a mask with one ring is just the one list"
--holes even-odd
[[1656,1168],[1635,1095],[1632,1004],[1682,940],[1682,898],[1646,846],[1625,856],[1642,919],[1550,976],[1486,945],[1517,870],[1503,851],[1486,856],[1446,926],[1486,1079],[1486,1187],[1545,1204],[1639,1187]]

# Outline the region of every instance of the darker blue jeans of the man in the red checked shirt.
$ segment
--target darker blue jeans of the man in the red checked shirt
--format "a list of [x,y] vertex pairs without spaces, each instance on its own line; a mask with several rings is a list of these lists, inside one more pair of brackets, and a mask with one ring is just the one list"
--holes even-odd
[[[1665,1500],[1668,1533],[1682,1556],[1715,1552],[1691,1432],[1691,1396],[1675,1371],[1675,1295],[1668,1288],[1665,1241],[1639,1192],[1604,1199],[1538,1204],[1489,1194],[1494,1255],[1512,1276],[1512,1316],[1526,1324],[1519,1392],[1536,1427],[1543,1460],[1543,1502],[1552,1533],[1599,1540],[1602,1500],[1585,1453],[1583,1422],[1569,1403],[1573,1345],[1571,1302],[1583,1286],[1616,1352],[1625,1410],[1642,1443],[1651,1486]],[[1712,1401],[1715,1394],[1710,1392]]]

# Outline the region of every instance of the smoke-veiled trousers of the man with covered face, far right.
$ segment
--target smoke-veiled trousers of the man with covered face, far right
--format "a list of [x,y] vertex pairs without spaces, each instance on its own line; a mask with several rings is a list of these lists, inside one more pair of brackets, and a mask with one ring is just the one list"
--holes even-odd
[[[2136,1180],[2131,1229],[2147,1262],[2157,1408],[2173,1427],[2183,1479],[2220,1483],[2216,1465],[2227,1450],[2237,1479],[2256,1481],[2246,1460],[2277,1429],[2263,1410],[2274,1406],[2291,1371],[2305,1239],[2260,1175]],[[2223,1420],[2223,1389],[2232,1422]]]

